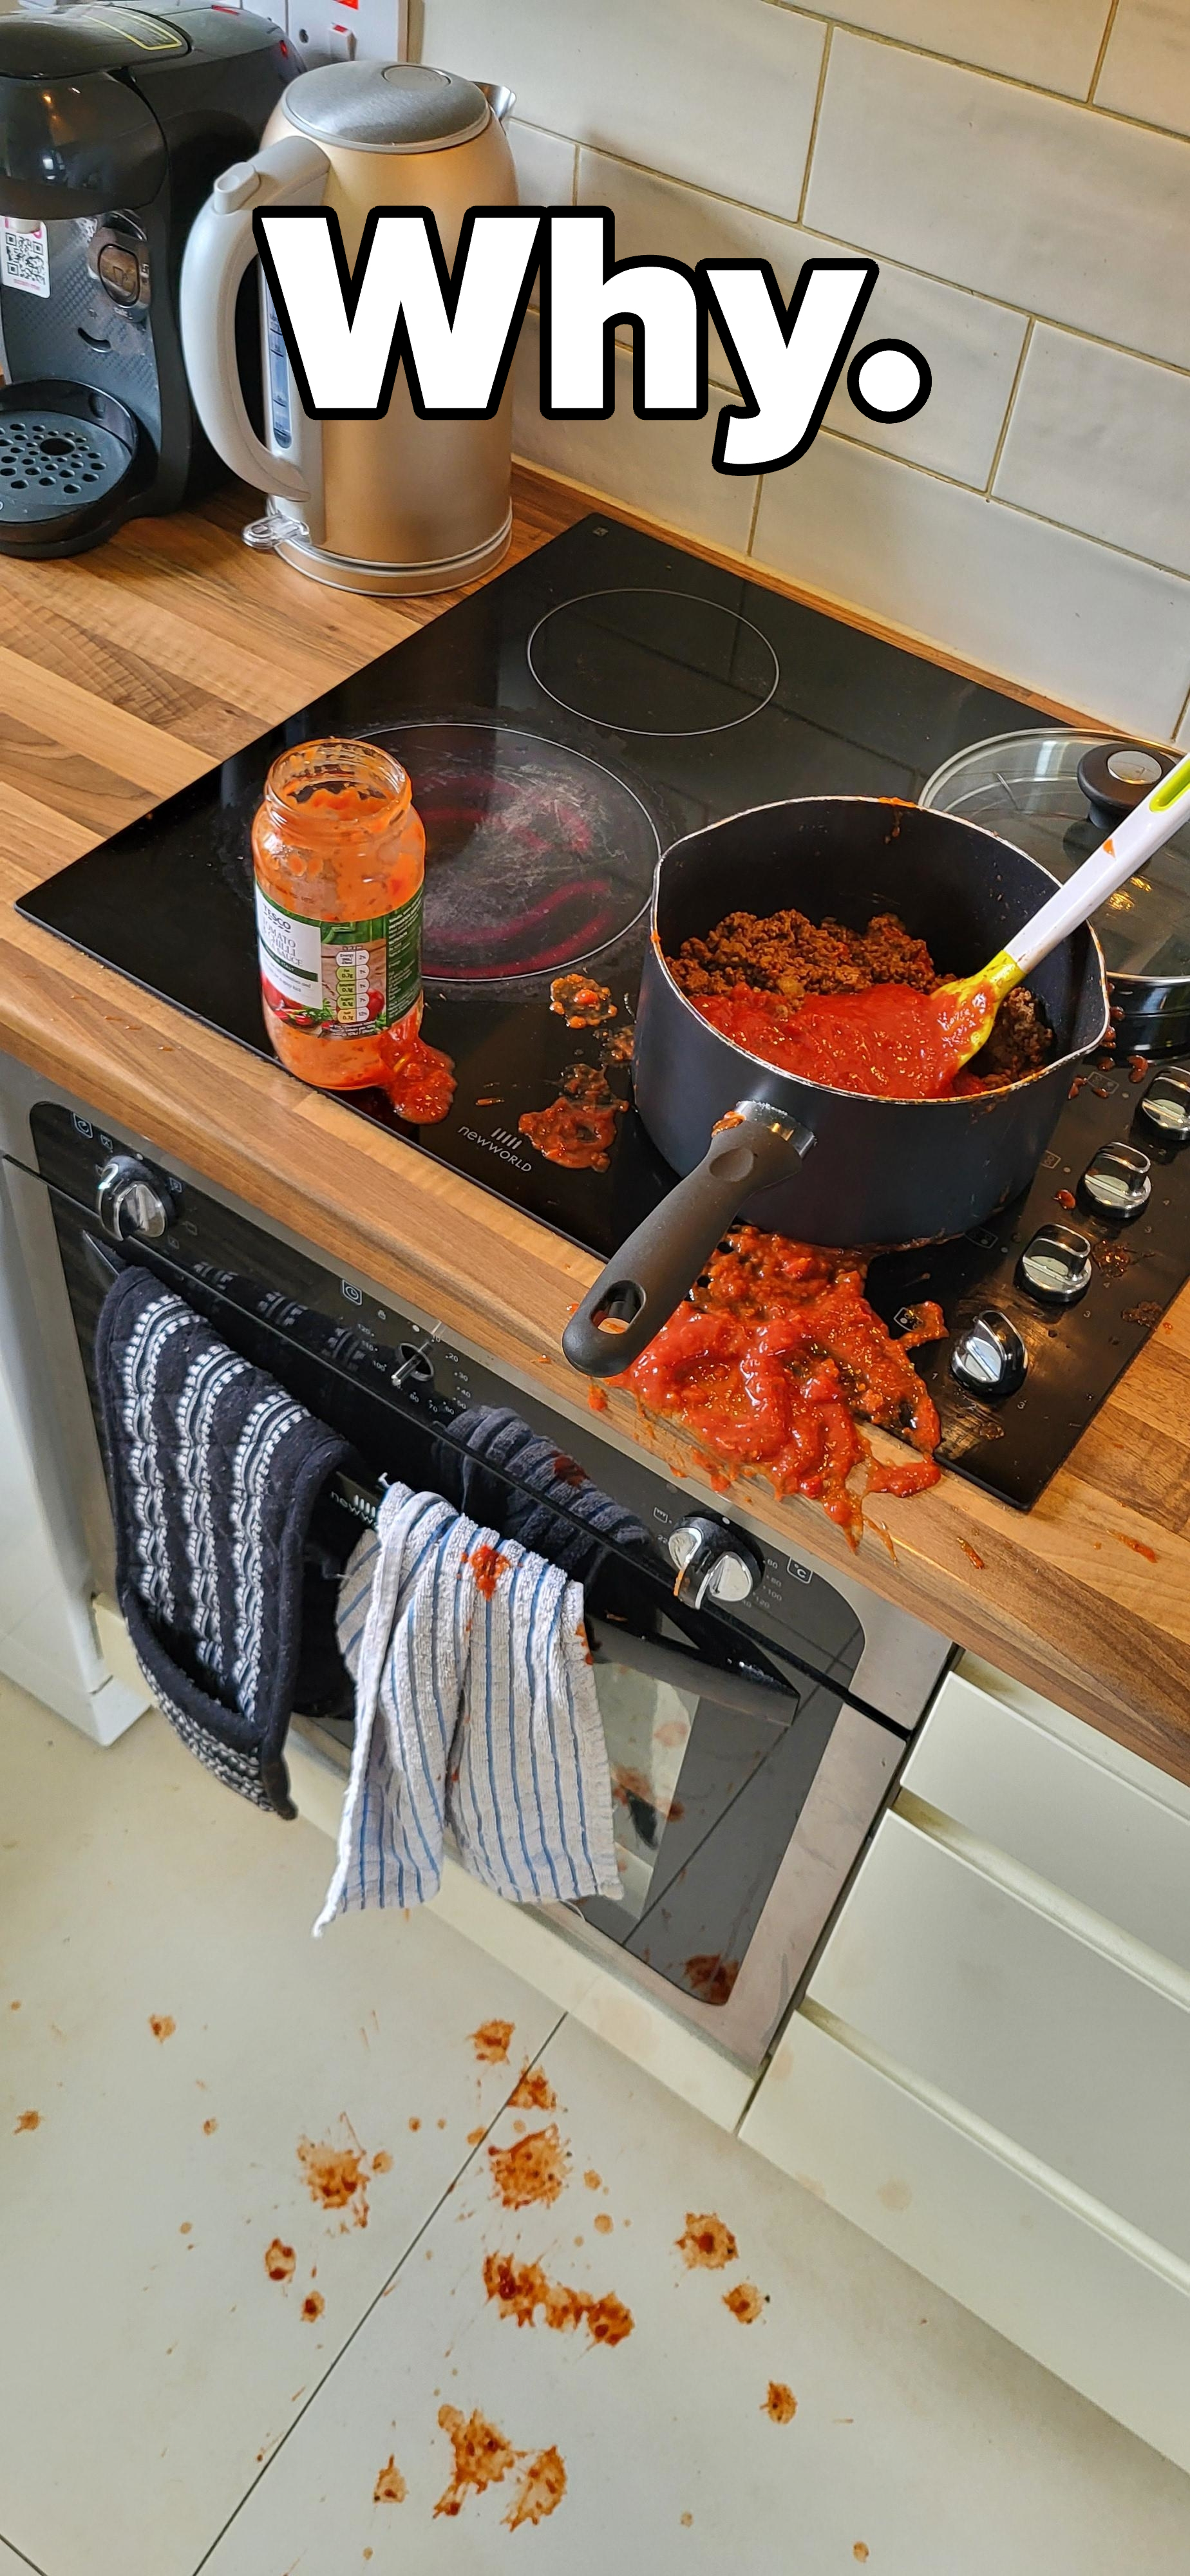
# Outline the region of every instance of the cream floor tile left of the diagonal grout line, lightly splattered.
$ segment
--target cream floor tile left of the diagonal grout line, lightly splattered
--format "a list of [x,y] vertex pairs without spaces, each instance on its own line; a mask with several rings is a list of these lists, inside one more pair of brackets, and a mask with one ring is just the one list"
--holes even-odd
[[[191,2576],[556,2022],[428,1919],[312,1942],[330,1862],[165,1721],[98,1752],[0,1685],[0,2530],[46,2576]],[[301,2138],[392,2156],[366,2226]]]

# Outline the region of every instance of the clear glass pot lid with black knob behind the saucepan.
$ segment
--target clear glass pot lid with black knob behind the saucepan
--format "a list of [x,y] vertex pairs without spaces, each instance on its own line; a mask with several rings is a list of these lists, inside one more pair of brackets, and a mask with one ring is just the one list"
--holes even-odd
[[[1120,737],[1115,737],[1120,739]],[[1064,732],[997,734],[943,760],[927,778],[922,804],[999,832],[1028,858],[1066,881],[1102,842],[1079,788],[1079,760],[1110,734]],[[1095,912],[1108,974],[1172,984],[1190,976],[1190,827],[1167,840],[1108,904]]]

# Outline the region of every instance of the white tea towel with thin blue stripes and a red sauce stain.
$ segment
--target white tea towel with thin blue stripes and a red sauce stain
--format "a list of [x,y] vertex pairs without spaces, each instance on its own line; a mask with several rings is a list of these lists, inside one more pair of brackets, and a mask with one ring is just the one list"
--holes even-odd
[[428,1904],[446,1829],[497,1896],[621,1896],[582,1584],[392,1484],[343,1574],[337,1633],[355,1744],[314,1932]]

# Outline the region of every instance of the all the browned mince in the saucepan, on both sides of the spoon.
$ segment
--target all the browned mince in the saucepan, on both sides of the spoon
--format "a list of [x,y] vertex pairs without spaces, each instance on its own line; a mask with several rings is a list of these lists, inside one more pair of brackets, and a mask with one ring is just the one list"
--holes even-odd
[[[876,912],[865,930],[811,922],[804,912],[729,912],[706,940],[685,940],[670,971],[690,999],[732,994],[742,984],[804,1002],[809,992],[868,992],[871,984],[932,992],[945,981],[925,940],[896,912]],[[999,1005],[971,1069],[987,1082],[1017,1082],[1046,1061],[1051,1046],[1043,1005],[1020,987]]]

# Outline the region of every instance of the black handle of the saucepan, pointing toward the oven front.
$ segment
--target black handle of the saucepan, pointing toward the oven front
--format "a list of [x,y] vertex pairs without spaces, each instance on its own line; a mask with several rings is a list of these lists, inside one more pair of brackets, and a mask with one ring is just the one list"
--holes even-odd
[[788,1110],[742,1100],[713,1131],[701,1164],[628,1234],[574,1309],[562,1334],[572,1368],[587,1378],[631,1368],[683,1303],[744,1200],[791,1180],[811,1144],[811,1131]]

